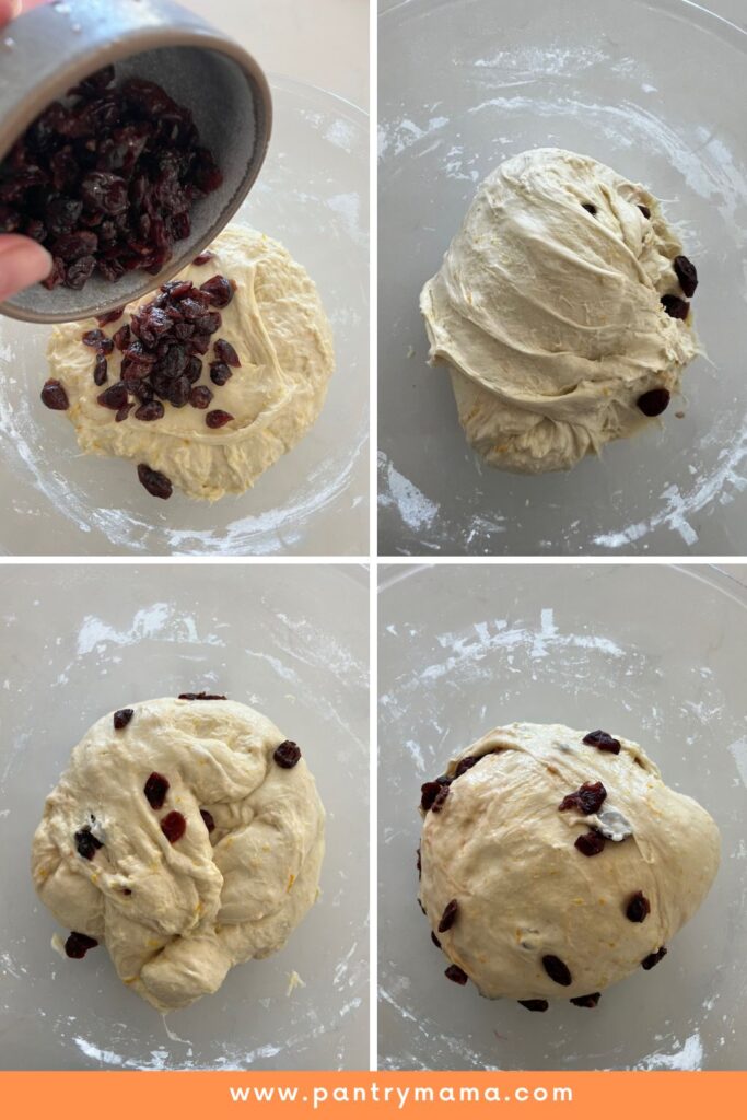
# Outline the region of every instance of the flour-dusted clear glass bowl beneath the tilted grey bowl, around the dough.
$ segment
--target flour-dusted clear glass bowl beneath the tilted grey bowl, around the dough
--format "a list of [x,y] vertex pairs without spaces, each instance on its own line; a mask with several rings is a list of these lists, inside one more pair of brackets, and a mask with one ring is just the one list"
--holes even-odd
[[49,328],[0,319],[0,552],[368,553],[368,120],[271,78],[273,137],[236,220],[282,242],[317,284],[337,371],[311,430],[248,493],[151,497],[136,466],[82,456],[39,401]]

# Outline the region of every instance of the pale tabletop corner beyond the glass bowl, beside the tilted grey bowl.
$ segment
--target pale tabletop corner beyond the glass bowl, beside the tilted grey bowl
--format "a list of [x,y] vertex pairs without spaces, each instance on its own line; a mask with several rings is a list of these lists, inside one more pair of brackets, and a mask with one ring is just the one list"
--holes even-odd
[[179,0],[263,69],[368,108],[368,0]]

